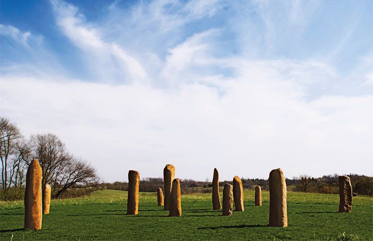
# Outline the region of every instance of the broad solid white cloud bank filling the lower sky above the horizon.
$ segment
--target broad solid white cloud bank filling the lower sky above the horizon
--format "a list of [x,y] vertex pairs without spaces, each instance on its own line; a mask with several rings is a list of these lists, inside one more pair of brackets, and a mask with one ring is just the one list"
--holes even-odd
[[222,96],[198,83],[172,90],[8,77],[1,112],[26,134],[56,133],[108,181],[125,180],[128,169],[162,176],[167,163],[178,177],[202,180],[214,167],[222,180],[265,178],[278,167],[288,177],[373,174],[372,95],[306,102],[276,68],[251,65],[241,67],[254,76],[209,77]]

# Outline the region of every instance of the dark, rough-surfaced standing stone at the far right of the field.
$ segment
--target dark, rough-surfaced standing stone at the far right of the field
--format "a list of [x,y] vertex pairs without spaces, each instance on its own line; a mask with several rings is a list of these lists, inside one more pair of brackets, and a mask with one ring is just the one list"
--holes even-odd
[[350,177],[339,176],[339,210],[338,213],[349,213],[352,209],[352,187]]

